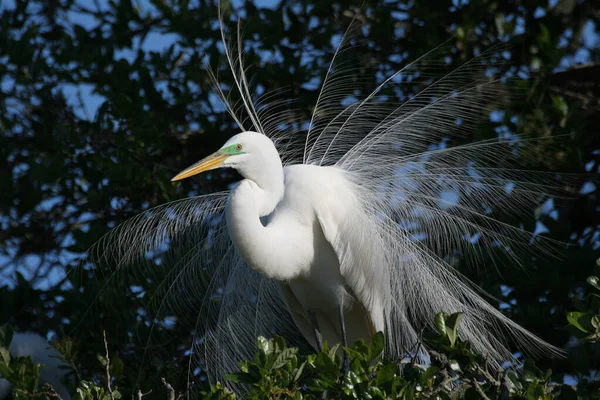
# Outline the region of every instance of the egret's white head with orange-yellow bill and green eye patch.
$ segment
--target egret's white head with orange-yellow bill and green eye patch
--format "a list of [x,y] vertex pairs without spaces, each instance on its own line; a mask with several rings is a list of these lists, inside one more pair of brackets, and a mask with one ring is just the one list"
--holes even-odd
[[267,136],[257,132],[242,132],[229,139],[219,150],[178,173],[178,181],[215,168],[235,168],[245,178],[253,179],[272,163],[281,168],[279,154]]

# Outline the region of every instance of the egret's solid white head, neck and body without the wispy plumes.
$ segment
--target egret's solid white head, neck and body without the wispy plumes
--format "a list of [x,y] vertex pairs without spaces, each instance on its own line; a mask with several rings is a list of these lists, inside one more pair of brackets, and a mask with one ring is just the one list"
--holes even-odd
[[389,276],[373,273],[385,263],[385,245],[350,176],[336,167],[284,169],[268,137],[243,132],[173,180],[218,167],[235,168],[245,178],[226,205],[235,248],[255,271],[279,283],[305,338],[320,347],[317,327],[330,344],[368,340],[385,330]]

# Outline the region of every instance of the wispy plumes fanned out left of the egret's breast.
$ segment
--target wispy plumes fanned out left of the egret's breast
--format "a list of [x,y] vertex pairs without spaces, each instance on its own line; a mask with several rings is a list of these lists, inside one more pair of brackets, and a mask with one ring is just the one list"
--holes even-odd
[[128,329],[153,357],[172,362],[165,344],[175,330],[189,332],[190,342],[178,348],[188,346],[182,353],[189,360],[180,362],[189,361],[190,384],[237,370],[254,355],[259,335],[285,335],[306,346],[275,284],[235,251],[227,198],[227,192],[196,196],[140,213],[98,241],[72,276],[77,282],[93,269],[99,287],[91,288],[99,294],[88,314],[119,313],[128,304],[124,297],[139,300],[137,322]]

